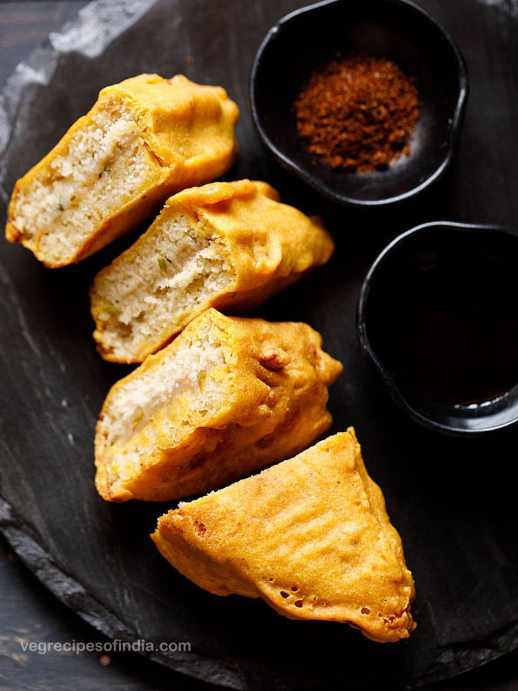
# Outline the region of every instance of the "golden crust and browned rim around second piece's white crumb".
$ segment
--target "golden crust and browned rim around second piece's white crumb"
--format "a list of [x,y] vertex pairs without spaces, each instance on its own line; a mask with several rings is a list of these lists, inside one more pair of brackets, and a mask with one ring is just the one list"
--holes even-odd
[[[202,301],[193,301],[191,310],[178,314],[178,317],[171,316],[166,329],[155,339],[146,340],[137,348],[129,341],[126,350],[121,346],[114,351],[111,341],[106,341],[105,333],[108,330],[112,334],[117,327],[124,330],[124,323],[119,321],[117,314],[106,314],[106,303],[113,303],[113,300],[106,299],[106,290],[111,290],[115,276],[121,274],[124,267],[131,273],[135,260],[153,251],[155,238],[178,214],[191,218],[193,227],[200,234],[210,238],[211,243],[218,243],[231,280],[213,294],[204,296]],[[148,354],[169,343],[191,319],[208,307],[227,313],[251,310],[303,278],[311,269],[326,263],[333,250],[333,240],[322,220],[309,218],[298,209],[281,204],[278,192],[266,182],[213,182],[185,189],[169,198],[148,231],[95,277],[90,300],[96,326],[93,335],[99,352],[110,361],[142,362]],[[145,309],[146,295],[153,290],[149,285],[150,281],[145,281],[138,288],[140,292],[131,290],[128,295],[128,299],[140,300],[142,310]],[[160,295],[166,302],[166,291]],[[124,299],[121,295],[122,306]],[[115,305],[117,307],[119,305]],[[147,319],[153,320],[153,316]]]

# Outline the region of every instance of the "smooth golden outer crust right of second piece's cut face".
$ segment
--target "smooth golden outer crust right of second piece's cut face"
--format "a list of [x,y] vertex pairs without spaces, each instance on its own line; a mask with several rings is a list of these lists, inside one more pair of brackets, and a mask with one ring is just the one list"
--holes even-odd
[[278,191],[260,180],[186,189],[168,206],[202,220],[227,248],[236,294],[219,296],[211,303],[217,309],[230,305],[252,309],[308,269],[325,264],[334,251],[320,218],[281,204]]

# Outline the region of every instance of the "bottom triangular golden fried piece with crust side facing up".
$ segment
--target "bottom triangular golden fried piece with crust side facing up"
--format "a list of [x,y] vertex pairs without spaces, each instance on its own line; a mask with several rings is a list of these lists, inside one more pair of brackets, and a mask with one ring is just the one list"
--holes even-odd
[[381,643],[407,638],[414,581],[354,429],[158,520],[151,536],[217,595],[261,597],[293,619],[341,621]]

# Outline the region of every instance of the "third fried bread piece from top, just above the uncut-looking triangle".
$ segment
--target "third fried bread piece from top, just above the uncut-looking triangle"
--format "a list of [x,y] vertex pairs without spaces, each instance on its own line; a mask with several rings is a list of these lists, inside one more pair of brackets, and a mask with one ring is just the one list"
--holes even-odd
[[95,435],[106,500],[166,501],[233,482],[294,455],[330,426],[342,371],[303,323],[210,308],[115,384]]

